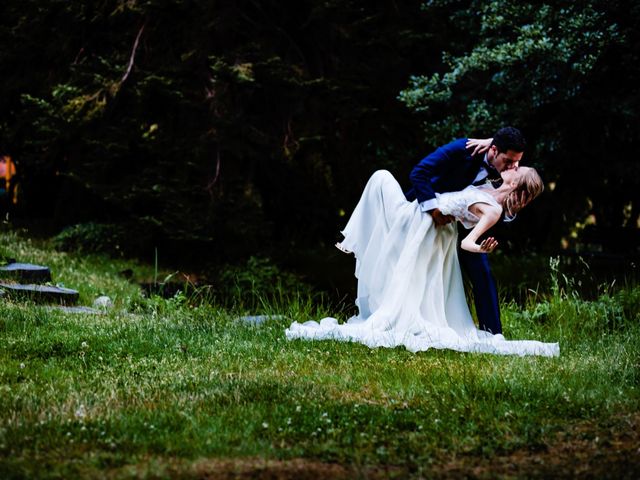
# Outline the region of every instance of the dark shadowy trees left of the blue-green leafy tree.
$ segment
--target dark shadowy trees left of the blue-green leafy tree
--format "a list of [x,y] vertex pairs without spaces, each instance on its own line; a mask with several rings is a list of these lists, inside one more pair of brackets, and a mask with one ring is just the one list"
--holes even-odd
[[373,170],[419,155],[395,98],[439,56],[419,2],[1,9],[2,142],[23,216],[135,221],[145,248],[228,260],[332,240]]

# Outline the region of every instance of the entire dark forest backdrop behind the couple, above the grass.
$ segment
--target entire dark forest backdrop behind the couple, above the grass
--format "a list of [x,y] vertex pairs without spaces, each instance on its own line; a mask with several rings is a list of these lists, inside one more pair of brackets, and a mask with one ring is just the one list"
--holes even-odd
[[4,0],[0,18],[9,220],[63,248],[269,257],[322,283],[373,171],[408,187],[439,144],[514,125],[547,189],[502,251],[635,272],[637,2]]

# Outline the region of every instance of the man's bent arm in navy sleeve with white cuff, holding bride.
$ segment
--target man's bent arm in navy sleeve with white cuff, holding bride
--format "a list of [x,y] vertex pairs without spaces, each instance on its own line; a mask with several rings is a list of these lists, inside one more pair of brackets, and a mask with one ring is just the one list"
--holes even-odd
[[466,138],[460,138],[437,148],[413,168],[409,178],[413,184],[416,198],[423,212],[437,208],[436,192],[433,182],[459,166],[465,155]]

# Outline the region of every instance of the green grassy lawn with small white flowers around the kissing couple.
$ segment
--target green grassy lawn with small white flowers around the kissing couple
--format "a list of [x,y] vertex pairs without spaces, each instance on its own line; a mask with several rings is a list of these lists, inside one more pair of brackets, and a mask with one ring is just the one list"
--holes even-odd
[[574,424],[638,410],[637,287],[507,304],[507,336],[559,341],[559,358],[412,354],[287,341],[291,320],[328,313],[313,299],[276,296],[263,311],[287,319],[252,327],[235,318],[260,312],[145,299],[117,273],[148,267],[0,240],[5,255],[50,265],[83,303],[116,299],[106,315],[0,301],[2,478],[180,476],[246,457],[420,476],[443,458],[544,449]]

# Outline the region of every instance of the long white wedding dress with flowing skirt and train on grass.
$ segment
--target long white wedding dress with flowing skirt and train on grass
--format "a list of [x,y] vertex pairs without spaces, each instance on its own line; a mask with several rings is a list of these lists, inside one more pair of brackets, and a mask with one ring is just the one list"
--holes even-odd
[[[478,187],[438,195],[438,208],[467,228],[478,221],[468,210],[478,202],[496,203]],[[476,328],[464,294],[455,224],[436,228],[417,201],[405,199],[389,172],[373,174],[342,233],[342,247],[356,257],[359,314],[344,324],[331,317],[294,322],[285,332],[288,339],[404,346],[412,352],[559,355],[557,343],[506,340]]]

